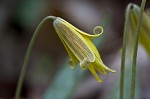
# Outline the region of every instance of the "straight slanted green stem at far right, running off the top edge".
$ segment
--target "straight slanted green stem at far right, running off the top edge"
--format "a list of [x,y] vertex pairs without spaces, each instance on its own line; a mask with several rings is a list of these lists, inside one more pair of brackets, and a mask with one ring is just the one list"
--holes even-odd
[[133,50],[133,63],[132,63],[132,80],[131,80],[131,99],[135,99],[135,81],[136,81],[136,60],[137,60],[137,51],[138,51],[138,40],[140,35],[140,27],[142,23],[143,11],[145,7],[146,0],[142,0],[140,14],[138,17],[138,23],[136,27],[135,43]]

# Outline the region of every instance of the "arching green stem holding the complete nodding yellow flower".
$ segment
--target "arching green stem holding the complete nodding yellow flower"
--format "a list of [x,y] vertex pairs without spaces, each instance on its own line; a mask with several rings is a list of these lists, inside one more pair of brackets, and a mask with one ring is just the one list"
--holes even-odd
[[22,89],[22,85],[23,85],[23,80],[24,80],[24,77],[25,77],[25,74],[26,74],[26,71],[27,71],[29,59],[31,57],[32,49],[33,49],[33,46],[34,46],[34,44],[35,44],[35,42],[37,40],[39,31],[40,31],[42,25],[44,24],[44,22],[46,22],[49,19],[55,20],[56,17],[55,16],[48,16],[48,17],[44,18],[40,22],[38,27],[36,28],[32,38],[31,38],[31,41],[29,43],[29,46],[28,46],[28,49],[27,49],[27,52],[26,52],[26,56],[25,56],[25,59],[24,59],[24,63],[23,63],[22,69],[21,69],[21,73],[20,73],[20,76],[19,76],[17,89],[16,89],[16,93],[15,93],[15,99],[19,99],[19,97],[20,97],[20,93],[21,93],[21,89]]

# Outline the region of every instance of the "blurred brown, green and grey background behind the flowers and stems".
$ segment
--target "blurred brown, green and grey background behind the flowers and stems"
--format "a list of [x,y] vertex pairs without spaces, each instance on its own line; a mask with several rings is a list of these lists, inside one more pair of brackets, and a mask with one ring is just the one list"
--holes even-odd
[[[68,67],[68,54],[52,22],[45,23],[30,59],[21,97],[23,99],[118,99],[120,49],[125,8],[141,0],[0,0],[0,99],[12,99],[30,38],[39,22],[59,16],[79,29],[92,33],[104,27],[95,39],[104,63],[115,74],[101,76],[97,83],[88,70]],[[146,8],[150,8],[147,1]],[[140,46],[138,57],[138,99],[150,99],[149,56]],[[130,66],[129,66],[130,67]],[[131,69],[127,69],[125,99],[130,96]]]

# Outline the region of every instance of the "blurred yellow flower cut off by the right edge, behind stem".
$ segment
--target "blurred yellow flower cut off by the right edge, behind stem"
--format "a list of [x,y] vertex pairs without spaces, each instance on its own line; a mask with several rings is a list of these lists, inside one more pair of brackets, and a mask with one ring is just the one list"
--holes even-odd
[[[137,26],[137,21],[138,21],[138,15],[140,13],[140,7],[137,6],[136,4],[129,4],[131,6],[130,10],[130,26],[129,29],[131,31],[131,37],[130,39],[134,39],[135,37],[135,30]],[[140,44],[143,45],[143,47],[146,49],[146,51],[150,55],[150,16],[147,13],[143,13],[143,19],[142,19],[142,25],[140,28],[140,39],[139,39]]]

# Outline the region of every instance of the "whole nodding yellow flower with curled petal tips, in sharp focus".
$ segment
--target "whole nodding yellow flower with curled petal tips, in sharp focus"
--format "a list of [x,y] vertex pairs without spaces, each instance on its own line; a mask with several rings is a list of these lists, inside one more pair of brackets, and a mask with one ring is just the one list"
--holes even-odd
[[103,32],[102,27],[97,26],[94,33],[99,33],[90,35],[59,17],[54,20],[53,25],[70,56],[72,68],[80,62],[80,67],[82,69],[88,68],[98,82],[102,82],[102,80],[98,77],[96,71],[102,74],[106,74],[105,70],[115,72],[104,65],[97,48],[91,41],[92,38],[101,35]]

